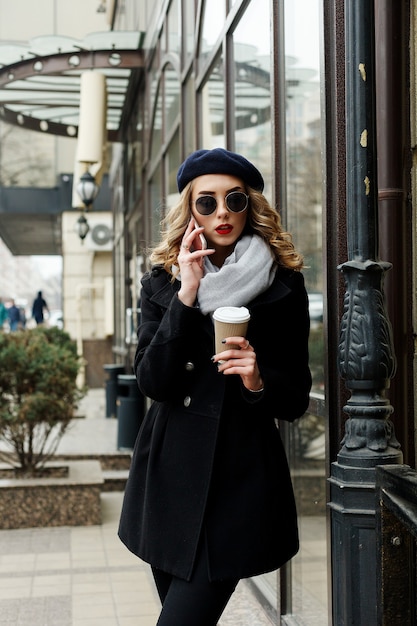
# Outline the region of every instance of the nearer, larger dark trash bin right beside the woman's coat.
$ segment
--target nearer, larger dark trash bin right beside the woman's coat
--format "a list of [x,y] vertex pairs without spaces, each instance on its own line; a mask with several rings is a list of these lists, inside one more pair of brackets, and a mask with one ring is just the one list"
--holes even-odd
[[117,449],[132,450],[143,420],[144,397],[136,376],[119,374],[117,381]]

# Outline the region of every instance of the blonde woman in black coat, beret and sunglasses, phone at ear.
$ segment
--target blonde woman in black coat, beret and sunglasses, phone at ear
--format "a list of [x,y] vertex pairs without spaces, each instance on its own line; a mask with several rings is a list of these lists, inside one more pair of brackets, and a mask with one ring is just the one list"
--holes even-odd
[[[239,579],[298,550],[276,420],[308,405],[308,303],[302,258],[252,163],[199,150],[177,182],[180,201],[142,280],[134,370],[154,402],[119,534],[152,566],[158,626],[215,626]],[[249,309],[247,338],[214,355],[212,314],[228,305]]]

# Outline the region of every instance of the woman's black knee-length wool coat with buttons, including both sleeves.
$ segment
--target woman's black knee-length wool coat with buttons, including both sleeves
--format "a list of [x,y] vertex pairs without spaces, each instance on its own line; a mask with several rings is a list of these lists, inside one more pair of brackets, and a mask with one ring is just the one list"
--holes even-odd
[[135,444],[119,536],[144,561],[186,580],[200,540],[211,580],[272,571],[298,550],[276,420],[293,421],[308,405],[303,276],[278,269],[247,305],[260,394],[217,371],[211,316],[185,306],[178,289],[158,267],[142,280],[134,369],[153,403]]

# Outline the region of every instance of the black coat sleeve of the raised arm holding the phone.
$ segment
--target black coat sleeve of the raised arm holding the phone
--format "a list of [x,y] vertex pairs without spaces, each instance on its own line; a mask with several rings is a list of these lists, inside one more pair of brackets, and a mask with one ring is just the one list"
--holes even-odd
[[163,402],[175,399],[182,392],[187,342],[196,336],[202,314],[178,299],[177,290],[170,288],[165,273],[160,276],[166,279],[162,289],[167,306],[157,297],[158,289],[155,292],[161,279],[155,281],[148,274],[142,280],[141,324],[134,372],[142,393]]

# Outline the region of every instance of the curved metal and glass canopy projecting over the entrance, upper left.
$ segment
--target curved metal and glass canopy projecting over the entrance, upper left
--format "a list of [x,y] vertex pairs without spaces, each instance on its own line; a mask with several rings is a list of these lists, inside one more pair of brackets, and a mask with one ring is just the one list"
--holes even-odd
[[0,120],[39,132],[76,137],[80,77],[100,70],[107,83],[109,141],[120,140],[125,96],[143,70],[144,33],[108,31],[84,40],[35,37],[27,46],[0,45]]

